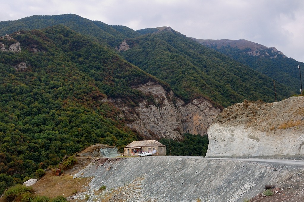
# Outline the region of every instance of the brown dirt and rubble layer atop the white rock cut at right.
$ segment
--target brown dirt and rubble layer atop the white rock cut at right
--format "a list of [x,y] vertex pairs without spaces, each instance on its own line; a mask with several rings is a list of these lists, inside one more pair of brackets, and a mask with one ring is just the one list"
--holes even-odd
[[247,101],[232,105],[214,121],[219,124],[239,125],[259,131],[295,128],[304,131],[304,96],[291,97],[280,102]]

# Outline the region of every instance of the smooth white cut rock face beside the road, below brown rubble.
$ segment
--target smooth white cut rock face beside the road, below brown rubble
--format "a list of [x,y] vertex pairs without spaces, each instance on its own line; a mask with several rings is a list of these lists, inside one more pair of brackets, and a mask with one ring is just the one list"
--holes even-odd
[[240,124],[212,124],[206,156],[304,155],[304,134],[295,129],[259,131]]

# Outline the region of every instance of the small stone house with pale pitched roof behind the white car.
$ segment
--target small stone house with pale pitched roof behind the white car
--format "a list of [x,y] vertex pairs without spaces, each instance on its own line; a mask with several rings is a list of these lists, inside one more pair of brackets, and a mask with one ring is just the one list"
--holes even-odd
[[133,141],[124,148],[124,155],[138,155],[141,152],[149,152],[153,155],[166,155],[166,145],[156,140]]

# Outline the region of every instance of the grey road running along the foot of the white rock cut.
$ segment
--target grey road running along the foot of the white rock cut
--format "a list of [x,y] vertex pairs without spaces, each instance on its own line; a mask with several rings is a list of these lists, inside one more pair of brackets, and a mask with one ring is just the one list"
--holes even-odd
[[224,161],[243,161],[243,162],[261,162],[279,165],[303,166],[304,160],[287,160],[287,159],[273,159],[273,158],[207,158],[202,156],[171,156],[176,158],[202,158],[210,160],[224,160]]

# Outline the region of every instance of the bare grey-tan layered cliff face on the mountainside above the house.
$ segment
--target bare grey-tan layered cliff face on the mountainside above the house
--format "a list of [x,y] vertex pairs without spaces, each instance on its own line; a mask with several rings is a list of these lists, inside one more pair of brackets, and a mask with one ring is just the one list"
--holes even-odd
[[179,139],[184,133],[204,135],[220,113],[220,109],[212,106],[206,99],[195,99],[185,104],[173,92],[167,92],[161,85],[153,82],[134,88],[152,95],[156,105],[144,100],[134,111],[119,100],[115,100],[115,103],[123,110],[125,118],[131,119],[129,127],[149,138]]

